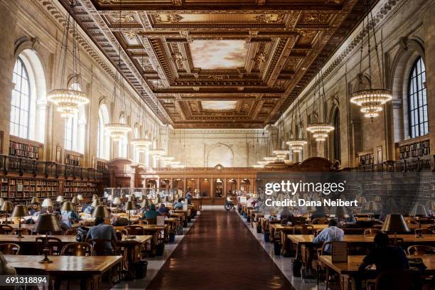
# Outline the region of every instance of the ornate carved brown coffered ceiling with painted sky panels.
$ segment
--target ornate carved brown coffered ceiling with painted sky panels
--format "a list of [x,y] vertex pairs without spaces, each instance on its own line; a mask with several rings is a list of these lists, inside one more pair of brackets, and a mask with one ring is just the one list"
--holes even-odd
[[353,31],[365,3],[77,0],[74,17],[114,65],[120,45],[119,71],[163,122],[262,128]]

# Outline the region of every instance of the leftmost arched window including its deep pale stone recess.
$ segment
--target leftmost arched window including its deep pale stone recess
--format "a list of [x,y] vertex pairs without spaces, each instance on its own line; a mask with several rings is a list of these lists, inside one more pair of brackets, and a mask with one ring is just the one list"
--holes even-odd
[[10,134],[44,142],[45,74],[33,50],[23,50],[12,73]]

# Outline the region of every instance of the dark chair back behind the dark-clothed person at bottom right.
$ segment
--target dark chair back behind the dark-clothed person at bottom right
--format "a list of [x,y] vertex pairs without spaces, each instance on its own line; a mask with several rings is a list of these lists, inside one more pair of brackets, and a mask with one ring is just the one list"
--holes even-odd
[[409,290],[411,286],[411,271],[385,271],[367,280],[367,290]]

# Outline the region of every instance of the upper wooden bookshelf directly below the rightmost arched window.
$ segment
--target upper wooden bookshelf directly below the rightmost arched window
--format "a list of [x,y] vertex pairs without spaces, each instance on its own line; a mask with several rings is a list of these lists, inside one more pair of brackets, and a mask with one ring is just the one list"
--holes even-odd
[[429,156],[431,153],[429,135],[396,143],[397,159],[412,159]]

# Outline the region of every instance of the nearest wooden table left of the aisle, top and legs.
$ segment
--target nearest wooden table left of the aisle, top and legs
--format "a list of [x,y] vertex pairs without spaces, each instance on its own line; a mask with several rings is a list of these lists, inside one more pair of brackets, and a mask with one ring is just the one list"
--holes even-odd
[[18,274],[45,274],[50,277],[49,289],[53,280],[82,278],[87,279],[86,289],[98,290],[102,274],[122,262],[121,256],[49,256],[53,263],[41,264],[43,256],[9,255],[4,257],[8,266],[14,267]]

